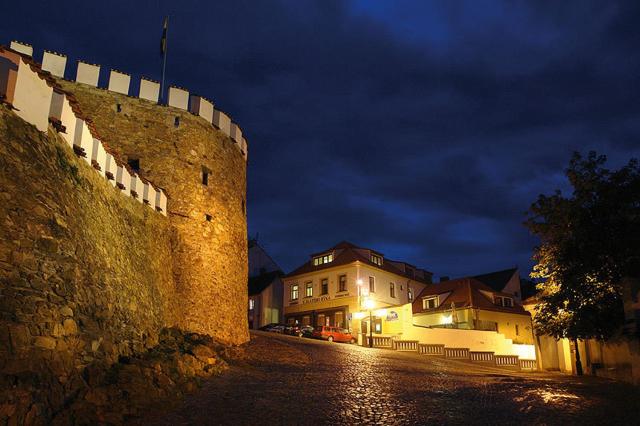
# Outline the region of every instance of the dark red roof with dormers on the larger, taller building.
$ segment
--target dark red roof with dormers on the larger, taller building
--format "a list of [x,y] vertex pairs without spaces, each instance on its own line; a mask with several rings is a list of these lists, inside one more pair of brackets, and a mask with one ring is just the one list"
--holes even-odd
[[[405,262],[398,262],[398,261],[384,258],[382,265],[377,265],[371,261],[370,257],[365,256],[363,252],[373,252],[374,254],[382,255],[382,253],[380,253],[379,251],[364,248],[364,247],[358,247],[355,244],[350,243],[348,241],[342,241],[327,250],[323,250],[321,252],[312,254],[310,260],[300,265],[298,268],[294,269],[293,271],[289,272],[287,275],[285,275],[285,277],[293,277],[296,275],[302,275],[309,272],[321,271],[323,269],[329,269],[336,266],[348,265],[355,261],[359,261],[366,265],[372,266],[374,268],[382,269],[384,271],[391,272],[393,274],[400,275],[406,278],[410,278],[415,281],[420,281],[424,283],[430,282],[429,278],[431,277],[432,274],[429,271],[422,270],[424,271],[424,274],[425,274],[424,278],[414,276],[406,273],[405,271],[393,265],[393,263],[405,263]],[[324,263],[322,265],[317,265],[317,266],[313,264],[314,257],[320,256],[323,254],[328,254],[328,253],[333,253],[333,262]],[[405,264],[414,269],[418,269],[408,263],[405,263]]]

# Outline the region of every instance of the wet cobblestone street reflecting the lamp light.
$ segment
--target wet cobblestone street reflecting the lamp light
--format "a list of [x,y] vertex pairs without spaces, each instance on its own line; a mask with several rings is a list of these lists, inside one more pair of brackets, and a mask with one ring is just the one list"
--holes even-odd
[[154,424],[640,424],[640,388],[256,332]]

